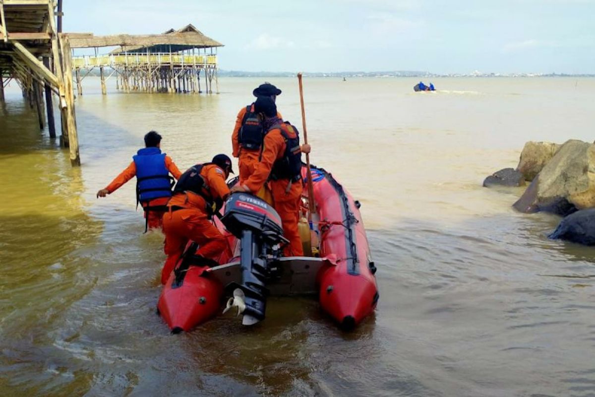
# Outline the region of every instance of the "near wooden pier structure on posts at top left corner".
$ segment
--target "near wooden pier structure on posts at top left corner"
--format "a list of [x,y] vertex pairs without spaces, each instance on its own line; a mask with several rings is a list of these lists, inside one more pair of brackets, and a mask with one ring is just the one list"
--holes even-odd
[[[70,148],[70,162],[80,165],[74,114],[71,48],[61,34],[61,0],[0,0],[0,102],[11,80],[37,109],[39,126],[47,114],[49,135],[55,137],[52,93],[58,97],[61,143]],[[45,93],[45,104],[43,94]]]

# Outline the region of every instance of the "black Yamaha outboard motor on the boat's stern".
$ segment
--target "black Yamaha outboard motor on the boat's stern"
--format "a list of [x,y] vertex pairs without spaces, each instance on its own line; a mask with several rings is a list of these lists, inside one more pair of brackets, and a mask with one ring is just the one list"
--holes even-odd
[[226,310],[231,306],[237,307],[239,314],[244,315],[243,324],[258,323],[265,317],[268,262],[278,254],[278,249],[273,247],[287,242],[283,237],[281,217],[258,197],[233,193],[227,199],[221,222],[240,240],[241,248],[242,285],[236,285],[234,298],[230,299]]

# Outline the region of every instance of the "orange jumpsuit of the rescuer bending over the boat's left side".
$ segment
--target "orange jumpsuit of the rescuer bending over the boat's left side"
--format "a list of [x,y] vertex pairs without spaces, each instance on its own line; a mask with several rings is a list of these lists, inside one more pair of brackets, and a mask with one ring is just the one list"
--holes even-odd
[[[225,172],[218,165],[205,165],[201,176],[209,186],[213,199],[227,198],[230,192],[225,182]],[[206,201],[201,195],[193,192],[176,193],[167,206],[170,210],[163,215],[164,251],[168,256],[161,272],[161,282],[164,284],[189,240],[199,244],[196,255],[209,259],[216,258],[227,247],[226,238],[209,220]]]

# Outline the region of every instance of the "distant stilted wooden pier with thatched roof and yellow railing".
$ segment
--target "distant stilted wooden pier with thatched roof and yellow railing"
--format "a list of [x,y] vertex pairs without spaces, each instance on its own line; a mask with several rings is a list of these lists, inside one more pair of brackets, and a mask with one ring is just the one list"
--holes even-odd
[[120,46],[109,54],[73,57],[79,95],[83,79],[95,68],[104,95],[105,82],[114,75],[117,89],[126,92],[212,93],[215,83],[219,93],[217,48],[223,44],[192,24],[161,35],[70,36],[73,48]]

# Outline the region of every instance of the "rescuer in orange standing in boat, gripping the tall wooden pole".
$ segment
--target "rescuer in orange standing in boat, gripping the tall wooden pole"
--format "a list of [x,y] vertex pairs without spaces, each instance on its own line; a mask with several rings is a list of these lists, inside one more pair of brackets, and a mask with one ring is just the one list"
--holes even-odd
[[281,217],[283,235],[289,240],[283,253],[302,256],[302,240],[297,229],[302,199],[302,152],[309,153],[309,145],[299,145],[297,129],[277,117],[275,102],[259,96],[256,112],[264,114],[264,148],[262,160],[244,183],[238,183],[231,192],[256,193],[267,180],[273,193],[273,207]]

